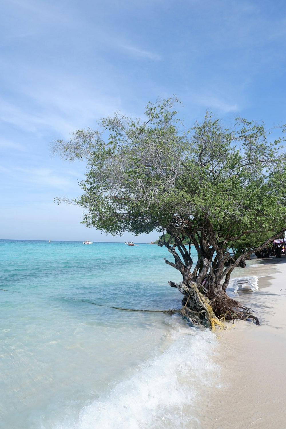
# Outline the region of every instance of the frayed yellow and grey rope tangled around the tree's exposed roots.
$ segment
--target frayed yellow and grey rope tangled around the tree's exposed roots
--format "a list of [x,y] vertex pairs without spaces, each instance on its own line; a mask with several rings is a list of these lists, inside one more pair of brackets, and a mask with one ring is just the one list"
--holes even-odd
[[214,314],[210,300],[199,291],[195,282],[190,286],[180,283],[180,287],[185,290],[186,296],[189,293],[186,304],[180,310],[180,314],[183,317],[191,323],[211,328],[212,331],[215,329],[227,329],[224,317],[218,318]]

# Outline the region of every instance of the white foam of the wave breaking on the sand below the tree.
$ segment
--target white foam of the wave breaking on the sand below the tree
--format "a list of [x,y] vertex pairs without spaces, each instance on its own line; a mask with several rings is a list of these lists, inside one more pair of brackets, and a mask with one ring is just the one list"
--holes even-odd
[[78,420],[65,428],[199,427],[199,397],[217,383],[219,375],[211,359],[217,340],[208,330],[184,326],[176,316],[166,322],[176,326],[169,347],[84,407]]

